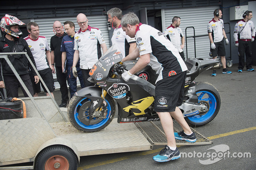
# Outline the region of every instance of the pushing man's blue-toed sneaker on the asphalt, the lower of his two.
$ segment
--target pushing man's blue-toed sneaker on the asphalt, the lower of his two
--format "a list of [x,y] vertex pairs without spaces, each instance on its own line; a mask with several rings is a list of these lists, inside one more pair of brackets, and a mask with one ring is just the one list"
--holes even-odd
[[164,149],[160,153],[153,157],[153,160],[156,162],[166,162],[169,160],[179,159],[180,151],[176,148],[175,151],[172,151],[169,146],[165,145]]

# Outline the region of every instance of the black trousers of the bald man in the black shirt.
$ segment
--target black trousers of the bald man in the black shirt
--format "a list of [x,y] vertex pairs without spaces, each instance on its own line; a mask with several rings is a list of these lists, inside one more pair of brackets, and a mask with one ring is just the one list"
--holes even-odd
[[67,86],[67,74],[62,72],[62,67],[56,67],[57,81],[60,84],[61,103],[68,103],[68,86]]

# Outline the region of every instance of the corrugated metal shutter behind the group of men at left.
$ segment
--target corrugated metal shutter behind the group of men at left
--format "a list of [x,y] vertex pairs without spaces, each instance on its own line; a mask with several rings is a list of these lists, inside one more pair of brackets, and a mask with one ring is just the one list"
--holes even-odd
[[[107,25],[106,15],[104,15],[104,16],[103,15],[95,15],[95,16],[88,15],[86,17],[88,18],[88,24],[90,26],[100,29],[100,31],[102,32],[102,34],[104,36],[107,48],[109,48],[108,25]],[[34,22],[36,22],[39,26],[40,35],[47,38],[49,45],[50,45],[51,37],[54,35],[52,26],[53,26],[54,21],[57,21],[57,20],[62,23],[63,27],[64,27],[63,23],[65,21],[72,21],[75,24],[75,31],[78,31],[80,29],[80,27],[78,26],[78,24],[76,22],[76,17],[35,18]],[[31,21],[33,21],[33,20],[31,20]],[[102,52],[102,50],[101,50],[101,52]],[[53,74],[53,78],[56,79],[55,73]],[[79,85],[80,85],[80,83],[79,83]],[[55,82],[55,88],[56,89],[60,88],[60,85],[58,82]]]

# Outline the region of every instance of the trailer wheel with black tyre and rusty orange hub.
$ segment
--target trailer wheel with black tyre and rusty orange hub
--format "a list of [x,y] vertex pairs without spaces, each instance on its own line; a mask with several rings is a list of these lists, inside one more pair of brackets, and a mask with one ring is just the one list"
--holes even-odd
[[36,159],[36,170],[76,170],[78,159],[67,146],[52,145],[44,148]]

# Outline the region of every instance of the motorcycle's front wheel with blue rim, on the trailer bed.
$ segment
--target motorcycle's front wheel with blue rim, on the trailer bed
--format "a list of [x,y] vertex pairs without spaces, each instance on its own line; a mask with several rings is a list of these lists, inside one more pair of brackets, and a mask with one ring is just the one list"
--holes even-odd
[[[114,118],[116,105],[110,96],[106,96],[106,118],[89,115],[91,100],[84,97],[73,96],[68,104],[68,117],[74,127],[84,132],[96,132],[108,126]],[[105,104],[102,103],[102,106]]]

